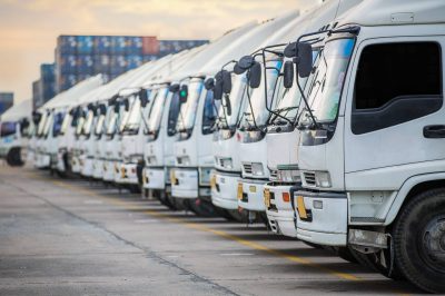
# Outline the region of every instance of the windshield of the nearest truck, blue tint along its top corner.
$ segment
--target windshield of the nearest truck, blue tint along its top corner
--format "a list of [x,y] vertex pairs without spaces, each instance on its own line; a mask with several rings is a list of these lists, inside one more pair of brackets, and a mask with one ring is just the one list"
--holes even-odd
[[[317,69],[310,79],[307,98],[317,122],[333,122],[337,118],[347,67],[355,39],[344,38],[328,41],[318,59]],[[306,108],[300,117],[301,125],[312,124]]]

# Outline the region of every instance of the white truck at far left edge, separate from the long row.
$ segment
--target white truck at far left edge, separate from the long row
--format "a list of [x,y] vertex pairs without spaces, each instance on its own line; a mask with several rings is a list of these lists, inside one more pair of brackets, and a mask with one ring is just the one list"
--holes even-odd
[[10,166],[22,166],[31,132],[31,101],[21,101],[0,117],[0,158]]

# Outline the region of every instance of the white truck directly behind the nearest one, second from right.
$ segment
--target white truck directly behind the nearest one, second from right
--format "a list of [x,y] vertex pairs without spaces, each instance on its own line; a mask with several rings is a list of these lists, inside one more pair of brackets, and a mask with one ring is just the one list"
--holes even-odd
[[[343,14],[362,0],[330,0],[304,13],[293,24],[296,38],[305,32],[316,31]],[[287,39],[288,41],[290,39]],[[279,48],[283,48],[279,46]],[[316,51],[314,52],[316,53]],[[285,65],[293,67],[290,59]],[[291,80],[290,80],[291,81]],[[275,108],[267,121],[267,168],[269,182],[264,187],[264,200],[270,229],[289,237],[297,236],[294,223],[294,208],[290,195],[295,186],[300,185],[296,147],[299,130],[296,128],[300,95],[296,83],[287,85],[284,72],[274,91]],[[301,82],[304,83],[304,81]]]

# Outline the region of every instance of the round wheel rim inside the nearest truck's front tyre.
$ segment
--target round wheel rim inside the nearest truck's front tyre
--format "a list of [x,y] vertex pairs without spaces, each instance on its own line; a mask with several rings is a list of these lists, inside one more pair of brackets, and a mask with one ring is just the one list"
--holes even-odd
[[445,216],[431,219],[424,227],[421,256],[429,268],[445,274]]

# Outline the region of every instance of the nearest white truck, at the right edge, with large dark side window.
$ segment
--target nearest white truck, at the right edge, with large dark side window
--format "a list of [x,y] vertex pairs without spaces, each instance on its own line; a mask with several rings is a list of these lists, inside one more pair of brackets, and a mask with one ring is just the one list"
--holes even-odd
[[364,1],[298,38],[294,59],[308,79],[297,237],[432,293],[445,293],[444,17],[443,1]]

